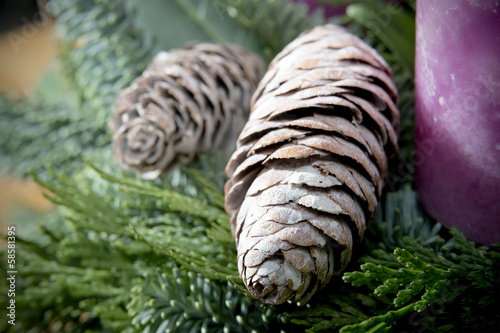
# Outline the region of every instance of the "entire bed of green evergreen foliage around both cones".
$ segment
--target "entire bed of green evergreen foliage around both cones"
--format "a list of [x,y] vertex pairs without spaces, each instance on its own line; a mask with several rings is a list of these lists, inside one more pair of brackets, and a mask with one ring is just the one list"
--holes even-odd
[[[107,129],[116,94],[160,49],[231,42],[269,61],[325,23],[320,12],[308,15],[288,0],[52,1],[61,53],[32,98],[0,97],[0,167],[32,177],[57,208],[12,217],[25,230],[16,240],[16,325],[2,319],[0,330],[500,330],[499,252],[441,228],[412,190],[415,1],[329,2],[347,5],[330,22],[346,25],[391,65],[402,116],[400,157],[343,276],[306,306],[252,299],[224,211],[228,156],[201,155],[146,181],[116,165]],[[391,19],[382,20],[387,13]],[[44,84],[53,82],[60,90],[48,94]]]

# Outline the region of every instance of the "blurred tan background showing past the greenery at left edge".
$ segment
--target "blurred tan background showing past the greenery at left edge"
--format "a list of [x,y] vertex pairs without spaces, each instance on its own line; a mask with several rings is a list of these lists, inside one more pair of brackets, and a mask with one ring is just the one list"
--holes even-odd
[[[0,0],[0,93],[28,96],[55,55],[54,22],[46,13],[40,20],[42,6],[36,0]],[[46,212],[51,206],[33,182],[0,173],[1,230],[16,211]]]

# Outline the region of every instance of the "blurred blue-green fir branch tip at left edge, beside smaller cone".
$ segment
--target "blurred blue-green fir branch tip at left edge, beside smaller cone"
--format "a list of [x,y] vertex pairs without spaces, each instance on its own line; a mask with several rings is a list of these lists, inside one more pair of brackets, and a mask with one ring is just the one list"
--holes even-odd
[[108,143],[105,131],[69,102],[10,101],[0,97],[0,169],[24,177],[46,168],[73,172],[92,149]]

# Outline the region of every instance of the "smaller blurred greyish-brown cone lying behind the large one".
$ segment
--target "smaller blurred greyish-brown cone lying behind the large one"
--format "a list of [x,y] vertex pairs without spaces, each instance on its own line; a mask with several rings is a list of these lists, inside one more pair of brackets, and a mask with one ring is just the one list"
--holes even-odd
[[144,178],[210,149],[234,151],[264,69],[237,46],[202,43],[159,53],[116,99],[115,158]]

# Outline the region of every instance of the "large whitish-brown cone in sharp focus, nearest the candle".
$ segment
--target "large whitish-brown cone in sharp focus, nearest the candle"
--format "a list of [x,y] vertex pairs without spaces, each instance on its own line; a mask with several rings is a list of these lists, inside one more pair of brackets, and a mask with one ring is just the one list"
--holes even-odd
[[391,75],[374,49],[332,25],[270,64],[225,188],[240,275],[263,302],[304,304],[348,264],[398,151]]

